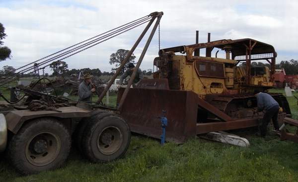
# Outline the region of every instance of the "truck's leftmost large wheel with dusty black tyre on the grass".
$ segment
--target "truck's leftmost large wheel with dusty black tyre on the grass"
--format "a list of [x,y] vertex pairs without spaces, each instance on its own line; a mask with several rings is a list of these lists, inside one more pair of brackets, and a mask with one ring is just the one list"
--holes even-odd
[[55,119],[36,119],[24,125],[9,142],[8,157],[15,169],[35,174],[62,166],[71,149],[67,128]]

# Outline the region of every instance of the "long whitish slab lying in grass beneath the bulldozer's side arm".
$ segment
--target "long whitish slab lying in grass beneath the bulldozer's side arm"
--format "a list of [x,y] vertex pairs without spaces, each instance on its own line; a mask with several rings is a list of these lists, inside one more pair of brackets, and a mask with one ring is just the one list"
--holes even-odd
[[227,132],[219,131],[219,132],[210,132],[204,136],[200,136],[200,138],[218,141],[221,143],[227,143],[231,145],[236,145],[240,147],[248,147],[249,141],[246,138],[242,138],[240,136],[230,134]]

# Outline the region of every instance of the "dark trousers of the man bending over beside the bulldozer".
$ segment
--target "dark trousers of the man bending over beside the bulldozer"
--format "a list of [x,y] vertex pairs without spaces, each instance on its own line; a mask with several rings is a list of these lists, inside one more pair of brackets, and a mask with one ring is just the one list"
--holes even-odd
[[276,130],[279,129],[278,111],[279,111],[279,106],[274,106],[265,112],[263,121],[262,121],[262,125],[260,128],[262,136],[265,136],[267,134],[267,125],[271,121],[271,119],[272,119],[274,128]]

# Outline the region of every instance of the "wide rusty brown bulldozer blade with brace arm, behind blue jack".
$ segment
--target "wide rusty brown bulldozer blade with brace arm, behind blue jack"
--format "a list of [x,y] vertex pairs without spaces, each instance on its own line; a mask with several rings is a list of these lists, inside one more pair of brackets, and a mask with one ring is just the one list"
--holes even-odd
[[[118,101],[123,93],[119,90]],[[223,127],[206,127],[197,125],[198,107],[212,110],[222,122],[230,121],[231,118],[219,109],[199,98],[192,91],[178,91],[166,89],[143,89],[131,88],[123,103],[120,115],[128,122],[131,131],[154,138],[160,138],[162,128],[160,117],[162,111],[166,111],[165,117],[168,124],[166,127],[165,140],[183,143],[190,137],[196,137],[199,133],[222,130]],[[207,124],[207,123],[206,123]],[[229,128],[229,124],[224,124]],[[206,130],[206,132],[204,132]]]

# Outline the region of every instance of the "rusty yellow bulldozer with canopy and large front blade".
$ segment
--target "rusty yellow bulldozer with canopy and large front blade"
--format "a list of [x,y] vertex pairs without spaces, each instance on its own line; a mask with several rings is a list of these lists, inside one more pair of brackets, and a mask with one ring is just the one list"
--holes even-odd
[[[178,143],[209,132],[257,126],[263,113],[257,112],[254,90],[273,88],[277,53],[273,46],[253,39],[217,40],[161,49],[153,61],[153,79],[131,88],[121,103],[120,115],[133,132],[159,138],[157,116],[166,111],[166,140]],[[218,49],[212,57],[212,51]],[[200,51],[206,50],[201,56]],[[218,52],[224,51],[224,58]],[[251,61],[265,60],[270,67],[251,67]],[[242,63],[241,63],[242,62]],[[291,116],[282,94],[271,94],[283,112],[279,121]]]

